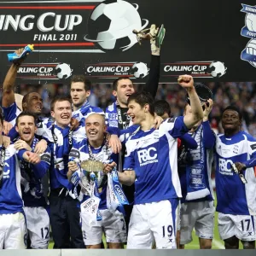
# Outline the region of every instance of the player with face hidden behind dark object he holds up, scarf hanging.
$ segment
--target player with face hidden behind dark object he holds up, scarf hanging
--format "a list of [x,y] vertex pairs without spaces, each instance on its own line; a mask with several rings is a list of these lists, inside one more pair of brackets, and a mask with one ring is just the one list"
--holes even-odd
[[[178,173],[183,195],[180,211],[180,248],[192,241],[192,232],[195,229],[200,248],[211,249],[215,212],[211,181],[215,135],[208,116],[212,110],[212,92],[203,84],[195,85],[195,90],[201,99],[204,112],[203,119],[189,131],[197,143],[197,148],[189,148],[186,145],[178,157]],[[188,103],[184,115],[191,112]],[[184,151],[186,154],[183,154]]]

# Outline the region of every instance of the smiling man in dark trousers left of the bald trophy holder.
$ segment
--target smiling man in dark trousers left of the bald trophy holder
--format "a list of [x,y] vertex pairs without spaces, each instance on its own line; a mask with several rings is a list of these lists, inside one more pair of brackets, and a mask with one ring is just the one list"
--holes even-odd
[[84,248],[79,226],[79,201],[71,193],[71,183],[67,180],[68,156],[73,147],[72,102],[65,96],[55,97],[50,109],[55,122],[48,126],[46,139],[54,158],[49,172],[49,218],[54,248]]

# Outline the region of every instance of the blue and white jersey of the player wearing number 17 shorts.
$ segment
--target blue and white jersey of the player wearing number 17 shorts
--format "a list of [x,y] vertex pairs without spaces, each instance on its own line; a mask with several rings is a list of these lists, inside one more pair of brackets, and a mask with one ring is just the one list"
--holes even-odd
[[216,141],[217,211],[234,215],[256,214],[256,177],[253,167],[242,171],[247,183],[232,171],[236,162],[256,157],[256,140],[244,131],[233,137],[218,135]]

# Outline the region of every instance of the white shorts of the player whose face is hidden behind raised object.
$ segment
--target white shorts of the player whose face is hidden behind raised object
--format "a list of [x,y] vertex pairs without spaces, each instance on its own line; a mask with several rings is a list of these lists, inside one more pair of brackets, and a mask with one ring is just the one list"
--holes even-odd
[[192,231],[200,238],[212,239],[214,230],[213,201],[185,202],[180,211],[180,244],[192,241]]

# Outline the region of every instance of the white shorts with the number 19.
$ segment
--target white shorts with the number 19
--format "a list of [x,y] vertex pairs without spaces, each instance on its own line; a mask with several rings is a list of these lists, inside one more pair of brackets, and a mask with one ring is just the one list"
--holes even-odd
[[178,201],[159,201],[133,206],[127,249],[175,249]]

